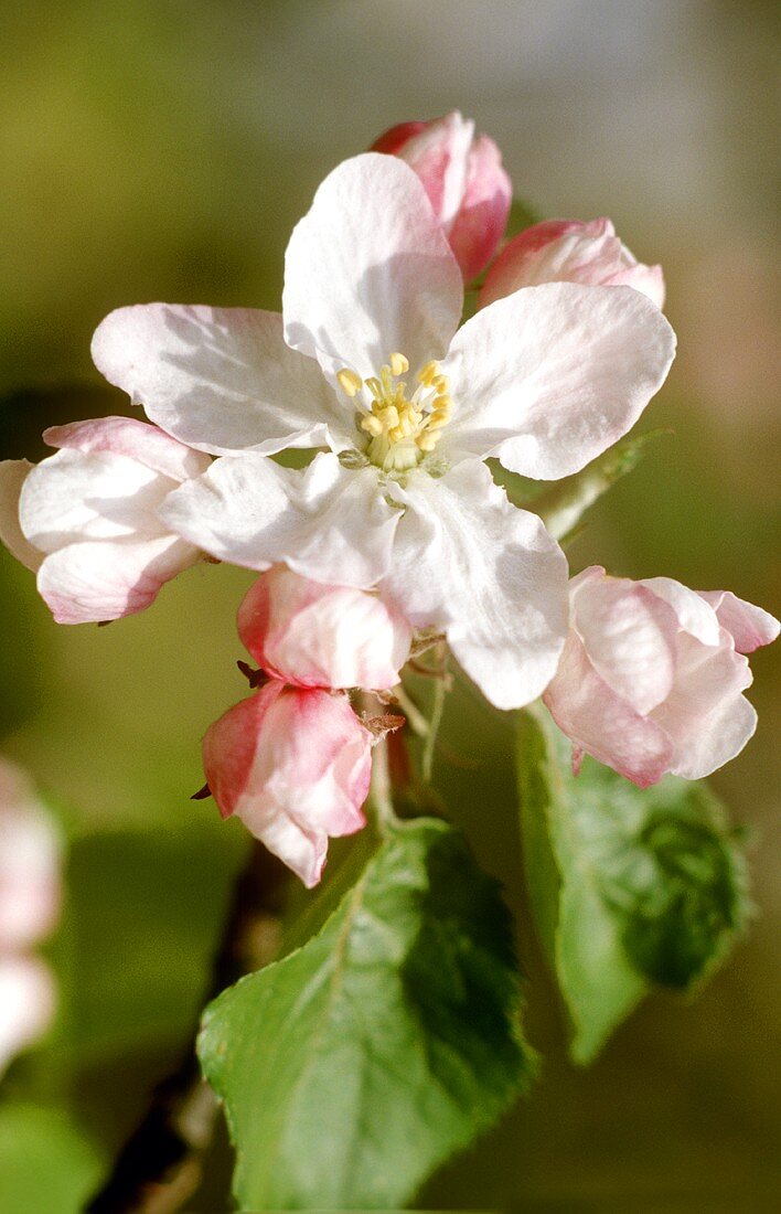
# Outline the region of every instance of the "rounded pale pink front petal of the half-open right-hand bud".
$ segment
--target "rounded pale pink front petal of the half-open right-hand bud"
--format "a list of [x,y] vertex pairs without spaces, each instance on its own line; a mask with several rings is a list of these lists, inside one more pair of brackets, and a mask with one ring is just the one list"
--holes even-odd
[[678,620],[651,590],[628,578],[570,585],[572,626],[609,687],[645,715],[669,694]]

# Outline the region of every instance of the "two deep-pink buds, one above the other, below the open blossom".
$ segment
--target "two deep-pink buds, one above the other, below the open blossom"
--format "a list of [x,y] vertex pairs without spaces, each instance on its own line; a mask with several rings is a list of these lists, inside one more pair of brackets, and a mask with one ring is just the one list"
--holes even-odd
[[207,730],[207,787],[223,817],[317,885],[329,838],[365,826],[374,734],[346,692],[398,683],[411,630],[377,595],[284,566],[250,588],[238,625],[266,680]]

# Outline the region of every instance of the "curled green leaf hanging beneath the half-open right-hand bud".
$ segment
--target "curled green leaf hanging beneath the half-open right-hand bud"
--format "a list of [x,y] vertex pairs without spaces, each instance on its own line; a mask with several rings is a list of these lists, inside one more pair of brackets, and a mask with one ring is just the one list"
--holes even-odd
[[691,989],[749,914],[740,836],[702,783],[640,792],[570,745],[545,710],[519,720],[524,861],[538,934],[589,1062],[654,986]]

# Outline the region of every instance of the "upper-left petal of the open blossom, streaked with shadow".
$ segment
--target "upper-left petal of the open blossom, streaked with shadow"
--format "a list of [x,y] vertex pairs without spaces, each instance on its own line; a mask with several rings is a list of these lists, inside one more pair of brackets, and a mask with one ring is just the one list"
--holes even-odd
[[122,307],[98,325],[95,365],[167,433],[215,455],[353,443],[353,419],[277,312]]

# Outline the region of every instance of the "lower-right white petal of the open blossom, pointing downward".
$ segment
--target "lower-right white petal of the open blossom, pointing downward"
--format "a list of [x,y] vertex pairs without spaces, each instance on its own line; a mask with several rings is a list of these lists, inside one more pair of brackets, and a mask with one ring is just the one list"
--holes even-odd
[[[394,493],[397,492],[394,487]],[[536,515],[507,501],[477,461],[410,477],[387,591],[417,628],[437,626],[497,708],[535,699],[568,626],[566,561]]]

